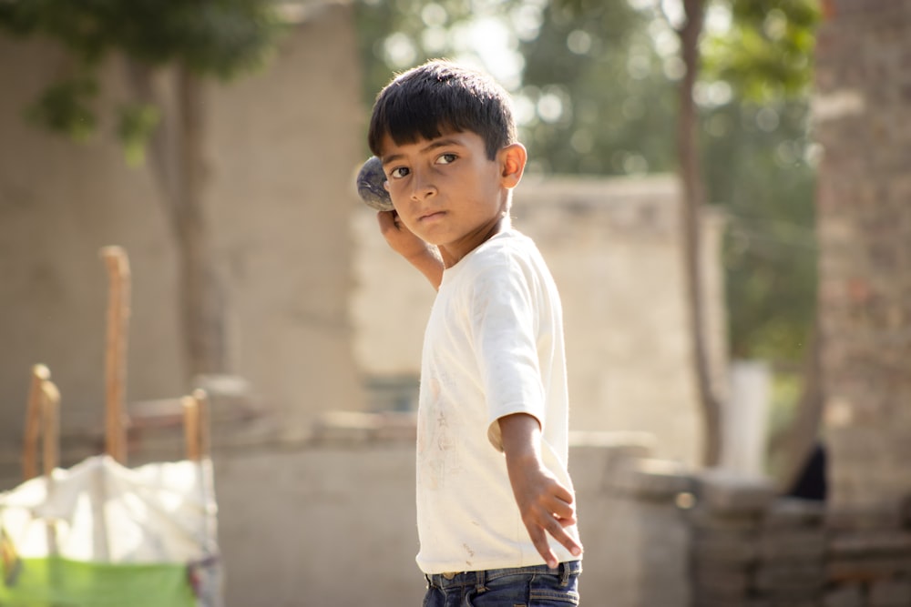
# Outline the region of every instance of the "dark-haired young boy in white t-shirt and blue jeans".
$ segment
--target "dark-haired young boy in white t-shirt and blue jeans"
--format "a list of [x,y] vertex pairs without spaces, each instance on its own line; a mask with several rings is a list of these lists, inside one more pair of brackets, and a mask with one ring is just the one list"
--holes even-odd
[[417,422],[425,605],[577,604],[562,312],[509,222],[526,164],[509,96],[431,61],[384,87],[368,140],[394,205],[380,229],[438,291]]

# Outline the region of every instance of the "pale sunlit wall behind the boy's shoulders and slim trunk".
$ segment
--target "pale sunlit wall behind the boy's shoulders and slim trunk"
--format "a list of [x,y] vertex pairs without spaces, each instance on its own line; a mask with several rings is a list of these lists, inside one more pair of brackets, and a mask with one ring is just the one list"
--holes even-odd
[[[678,202],[672,177],[527,176],[516,190],[512,215],[513,225],[535,238],[562,296],[570,426],[645,431],[658,439],[659,457],[695,464],[702,429]],[[703,226],[709,351],[722,389],[722,222],[707,213]],[[358,364],[373,377],[416,378],[434,291],[386,246],[369,209],[353,216],[353,232]]]

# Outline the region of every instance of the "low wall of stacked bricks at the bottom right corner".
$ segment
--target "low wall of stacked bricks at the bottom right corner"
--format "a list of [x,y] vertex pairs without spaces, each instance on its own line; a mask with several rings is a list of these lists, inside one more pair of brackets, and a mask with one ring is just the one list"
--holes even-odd
[[763,479],[708,471],[693,486],[692,607],[911,604],[911,532],[845,527]]

